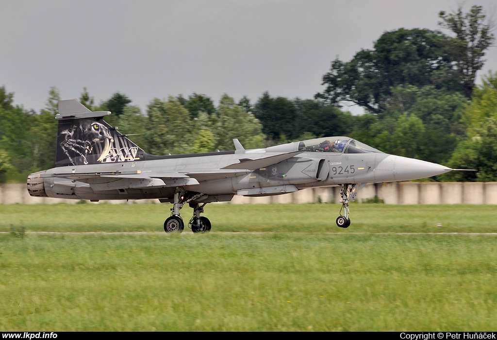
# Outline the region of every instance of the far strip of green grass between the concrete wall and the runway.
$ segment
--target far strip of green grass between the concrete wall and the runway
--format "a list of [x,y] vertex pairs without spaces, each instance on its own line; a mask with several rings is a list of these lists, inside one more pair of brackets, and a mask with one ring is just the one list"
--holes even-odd
[[[172,204],[0,205],[0,232],[163,231]],[[497,206],[352,204],[348,229],[335,219],[339,204],[209,204],[213,232],[497,232]],[[188,223],[192,209],[181,216]],[[442,227],[437,227],[441,224]],[[185,227],[185,232],[190,232]]]

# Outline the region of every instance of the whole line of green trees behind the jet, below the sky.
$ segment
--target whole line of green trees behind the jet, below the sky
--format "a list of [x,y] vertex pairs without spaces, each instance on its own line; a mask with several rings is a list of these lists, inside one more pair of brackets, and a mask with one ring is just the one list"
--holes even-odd
[[[224,94],[216,105],[204,94],[154,98],[145,112],[120,92],[94,103],[83,88],[79,100],[105,117],[147,152],[157,155],[262,148],[324,136],[350,136],[386,153],[457,169],[435,180],[497,180],[497,73],[475,85],[485,51],[495,41],[493,22],[481,6],[465,13],[439,12],[448,31],[404,29],[383,33],[373,49],[350,61],[338,58],[312,99],[272,97],[236,102]],[[13,104],[0,87],[0,181],[24,181],[27,173],[55,166],[56,87],[44,109]],[[359,105],[354,116],[344,102]]]

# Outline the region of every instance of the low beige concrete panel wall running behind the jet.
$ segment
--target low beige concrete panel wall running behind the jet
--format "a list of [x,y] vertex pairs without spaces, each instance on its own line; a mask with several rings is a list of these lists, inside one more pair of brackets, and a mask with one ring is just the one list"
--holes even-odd
[[[382,199],[385,204],[497,204],[497,182],[395,182],[367,184],[357,192],[356,201]],[[235,196],[231,204],[314,203],[340,201],[340,188],[309,188],[284,195],[266,197]],[[0,185],[0,204],[77,203],[78,200],[31,197],[26,184]],[[101,201],[111,204],[125,200]],[[135,201],[130,201],[135,202]],[[137,200],[136,203],[159,203],[159,200]]]

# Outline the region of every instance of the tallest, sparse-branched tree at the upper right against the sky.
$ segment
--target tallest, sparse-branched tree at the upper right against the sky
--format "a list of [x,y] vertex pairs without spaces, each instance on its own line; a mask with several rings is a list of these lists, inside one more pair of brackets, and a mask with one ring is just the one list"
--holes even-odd
[[485,51],[495,40],[492,33],[495,23],[485,20],[482,6],[474,5],[468,13],[463,13],[462,7],[459,5],[453,13],[440,11],[438,16],[442,21],[438,24],[455,34],[445,46],[452,60],[449,78],[461,85],[465,96],[471,98],[476,73],[484,64]]

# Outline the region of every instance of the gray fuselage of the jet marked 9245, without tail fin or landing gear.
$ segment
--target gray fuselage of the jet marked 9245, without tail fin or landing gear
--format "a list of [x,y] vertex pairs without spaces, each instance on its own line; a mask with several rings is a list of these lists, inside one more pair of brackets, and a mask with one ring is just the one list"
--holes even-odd
[[[348,144],[353,141],[347,140]],[[46,170],[43,182],[46,195],[57,198],[83,200],[158,198],[161,201],[172,202],[176,187],[181,186],[184,190],[203,193],[204,201],[213,202],[229,201],[237,194],[266,196],[307,187],[409,180],[449,170],[437,164],[388,155],[372,148],[360,149],[359,153],[347,153],[346,147],[340,152],[336,150],[323,152],[306,150],[302,147],[302,143],[236,151],[228,155],[226,153],[192,154],[150,161],[59,167]],[[297,156],[267,167],[236,171],[223,169],[233,164],[243,164],[247,160],[299,151],[299,148],[302,153]],[[51,176],[60,173],[110,174],[104,178],[83,180]],[[140,173],[141,176],[153,174],[154,177],[161,177],[161,173],[180,173],[186,178],[167,178],[164,179],[164,185],[144,187],[137,185],[137,179],[119,177],[114,180],[112,173]],[[191,178],[196,180],[192,182]]]

